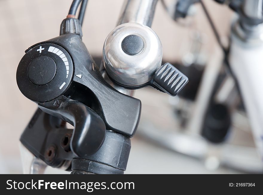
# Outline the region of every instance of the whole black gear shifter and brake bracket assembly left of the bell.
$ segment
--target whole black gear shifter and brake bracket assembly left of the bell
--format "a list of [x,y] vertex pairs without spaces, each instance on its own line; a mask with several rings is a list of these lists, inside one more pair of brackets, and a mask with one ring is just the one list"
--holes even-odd
[[[34,134],[37,132],[37,135],[43,136],[47,132],[57,132],[51,128],[54,125],[47,126],[45,120],[42,124],[40,119],[39,123],[34,123],[39,114],[33,116],[33,122],[30,122],[20,140],[35,156],[51,166],[57,167],[65,159],[76,158],[73,162],[77,165],[72,167],[78,167],[78,163],[83,163],[77,160],[79,158],[85,159],[85,168],[91,166],[92,160],[92,165],[97,167],[92,168],[93,173],[123,173],[128,156],[118,153],[125,150],[129,154],[128,137],[134,135],[139,123],[141,102],[118,92],[103,79],[82,42],[80,26],[76,25],[79,23],[67,18],[61,24],[62,34],[59,37],[27,49],[16,74],[17,85],[23,95],[36,102],[45,113],[74,125],[70,137],[71,155],[58,152],[54,155],[56,160],[52,161],[45,157],[49,146],[52,146],[52,151],[54,148],[59,151],[61,144],[58,142],[60,139],[52,141],[50,138],[45,140],[45,144],[32,140],[32,128]],[[40,128],[40,124],[44,128]],[[61,136],[59,134],[57,136]],[[43,138],[38,136],[38,139]],[[115,158],[112,162],[108,162],[103,155],[110,145],[112,148],[108,158]],[[101,171],[98,166],[105,168]],[[74,170],[74,173],[78,171]]]

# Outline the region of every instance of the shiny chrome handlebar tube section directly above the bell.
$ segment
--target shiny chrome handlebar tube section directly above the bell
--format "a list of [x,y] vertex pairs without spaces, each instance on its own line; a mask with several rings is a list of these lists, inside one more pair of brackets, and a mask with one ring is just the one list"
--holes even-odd
[[151,27],[158,0],[126,0],[117,25],[136,22]]

